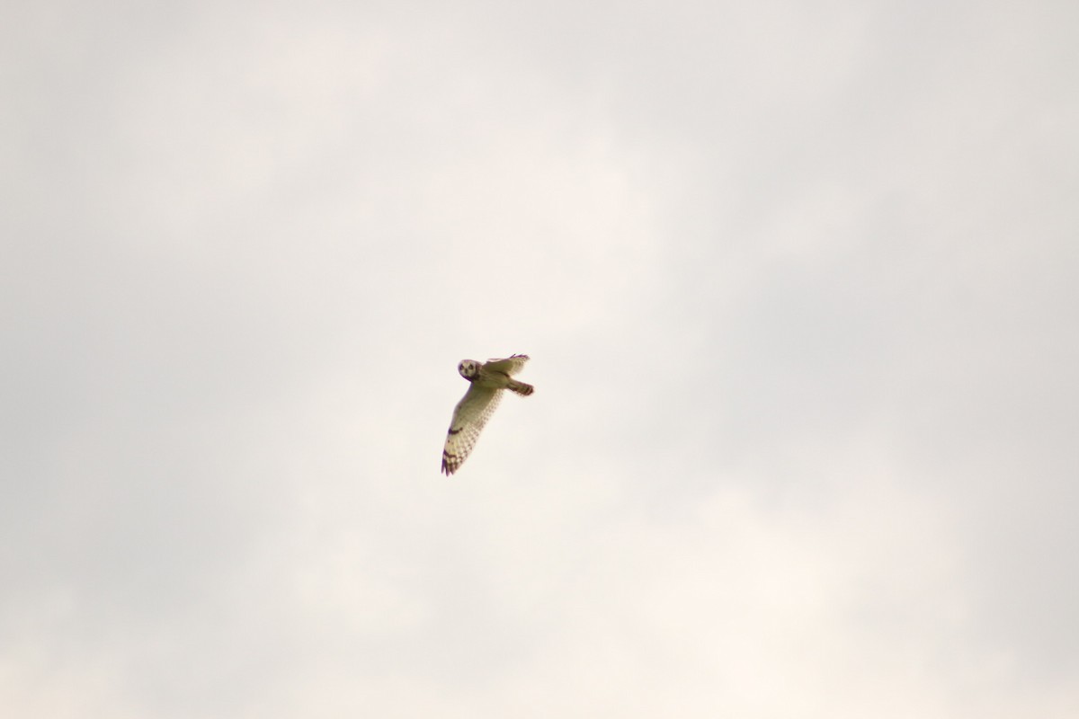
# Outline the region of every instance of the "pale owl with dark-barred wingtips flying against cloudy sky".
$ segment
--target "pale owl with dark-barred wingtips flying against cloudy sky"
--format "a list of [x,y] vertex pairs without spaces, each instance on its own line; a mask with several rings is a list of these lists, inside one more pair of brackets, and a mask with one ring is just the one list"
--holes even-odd
[[528,355],[514,355],[505,359],[488,360],[486,363],[462,360],[457,365],[457,372],[470,384],[457,406],[453,407],[450,432],[442,448],[442,471],[447,476],[461,468],[468,453],[476,446],[480,430],[498,406],[503,389],[524,397],[532,393],[532,385],[513,378],[528,361]]

